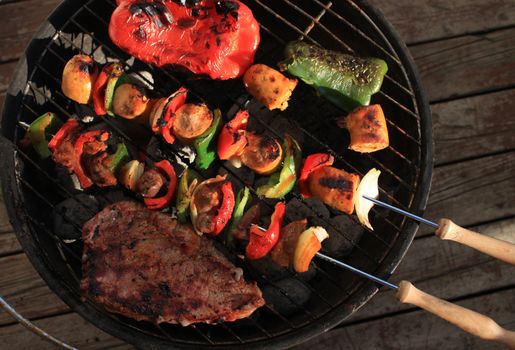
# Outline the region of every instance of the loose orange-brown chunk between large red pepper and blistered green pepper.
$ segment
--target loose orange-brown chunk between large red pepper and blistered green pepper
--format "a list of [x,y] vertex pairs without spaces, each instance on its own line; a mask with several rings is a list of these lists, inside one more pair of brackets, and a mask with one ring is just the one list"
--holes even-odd
[[284,111],[288,107],[297,82],[264,64],[251,66],[243,76],[247,91],[270,110]]

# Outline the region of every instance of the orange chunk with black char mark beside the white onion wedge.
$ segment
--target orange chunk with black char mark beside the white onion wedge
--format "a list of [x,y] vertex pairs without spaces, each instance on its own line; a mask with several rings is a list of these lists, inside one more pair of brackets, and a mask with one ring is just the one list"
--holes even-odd
[[359,176],[333,167],[323,167],[308,178],[311,194],[325,204],[352,214]]

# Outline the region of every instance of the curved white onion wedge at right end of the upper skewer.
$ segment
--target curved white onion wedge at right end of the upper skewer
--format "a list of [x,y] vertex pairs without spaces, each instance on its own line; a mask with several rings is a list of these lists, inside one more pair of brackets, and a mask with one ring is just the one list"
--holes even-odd
[[356,215],[358,216],[359,222],[372,231],[374,228],[368,220],[368,212],[372,209],[374,203],[363,198],[363,196],[370,198],[377,198],[379,196],[379,175],[381,175],[381,172],[373,168],[363,176],[358,186],[358,190],[356,191],[356,202],[354,203],[354,208],[356,209]]

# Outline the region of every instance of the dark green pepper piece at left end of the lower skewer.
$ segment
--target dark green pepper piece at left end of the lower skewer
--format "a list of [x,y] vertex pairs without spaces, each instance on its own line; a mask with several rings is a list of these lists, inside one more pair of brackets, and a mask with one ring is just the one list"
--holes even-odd
[[52,155],[48,149],[48,141],[63,125],[59,118],[52,112],[43,114],[34,120],[27,130],[27,134],[34,150],[43,159]]

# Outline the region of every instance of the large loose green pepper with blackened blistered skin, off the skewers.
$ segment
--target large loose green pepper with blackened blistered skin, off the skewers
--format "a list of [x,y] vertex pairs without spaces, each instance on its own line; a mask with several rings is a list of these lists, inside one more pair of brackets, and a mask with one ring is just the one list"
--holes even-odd
[[370,104],[388,71],[379,58],[356,57],[302,41],[286,45],[282,71],[312,85],[323,97],[345,111]]

